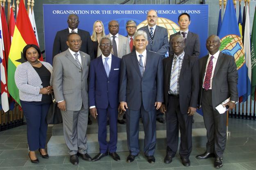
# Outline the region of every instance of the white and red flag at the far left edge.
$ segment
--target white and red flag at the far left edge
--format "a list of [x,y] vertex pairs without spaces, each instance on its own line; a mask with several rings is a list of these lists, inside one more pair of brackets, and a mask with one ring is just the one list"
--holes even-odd
[[[2,9],[2,8],[1,8]],[[7,71],[6,71],[6,62],[5,62],[5,50],[4,40],[3,40],[3,31],[2,31],[2,21],[0,20],[0,74],[1,74],[1,104],[2,110],[7,112],[9,110],[9,101],[7,93]]]

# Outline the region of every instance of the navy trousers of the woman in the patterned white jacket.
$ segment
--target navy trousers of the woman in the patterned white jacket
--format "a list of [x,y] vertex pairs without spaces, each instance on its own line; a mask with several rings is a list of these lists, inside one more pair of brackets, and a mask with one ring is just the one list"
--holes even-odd
[[27,143],[29,150],[34,151],[45,148],[47,122],[45,117],[50,103],[33,103],[20,100],[23,113],[27,121]]

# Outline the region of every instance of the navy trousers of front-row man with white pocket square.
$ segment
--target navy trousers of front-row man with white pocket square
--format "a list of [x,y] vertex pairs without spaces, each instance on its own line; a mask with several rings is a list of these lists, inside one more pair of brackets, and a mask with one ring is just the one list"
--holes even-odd
[[[98,141],[100,144],[100,153],[116,152],[117,143],[117,117],[118,108],[111,108],[108,106],[107,109],[97,108],[98,113]],[[109,142],[106,141],[106,124],[109,118]]]

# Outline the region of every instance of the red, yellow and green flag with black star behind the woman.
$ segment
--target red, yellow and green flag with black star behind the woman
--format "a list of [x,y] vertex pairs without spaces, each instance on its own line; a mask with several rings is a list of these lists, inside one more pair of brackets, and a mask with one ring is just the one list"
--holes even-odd
[[[16,67],[26,62],[22,57],[22,51],[24,46],[27,44],[36,44],[36,37],[34,34],[34,30],[32,29],[32,25],[30,23],[29,17],[27,15],[27,11],[25,9],[25,5],[23,0],[20,1],[19,11],[16,19],[16,26],[14,29],[14,36],[11,42],[11,49],[9,53],[8,59],[8,90],[9,94],[16,100],[16,102],[20,105],[20,97],[19,97],[19,90],[14,81],[14,73]],[[40,58],[41,60],[42,57]]]

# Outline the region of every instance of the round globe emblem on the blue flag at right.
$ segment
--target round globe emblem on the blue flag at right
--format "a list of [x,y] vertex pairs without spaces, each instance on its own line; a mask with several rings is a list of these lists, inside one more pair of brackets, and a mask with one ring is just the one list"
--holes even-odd
[[223,37],[220,40],[220,51],[235,58],[238,70],[245,64],[244,46],[241,37],[238,35],[230,34]]

